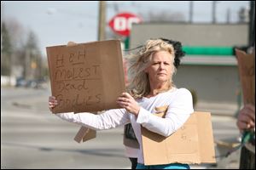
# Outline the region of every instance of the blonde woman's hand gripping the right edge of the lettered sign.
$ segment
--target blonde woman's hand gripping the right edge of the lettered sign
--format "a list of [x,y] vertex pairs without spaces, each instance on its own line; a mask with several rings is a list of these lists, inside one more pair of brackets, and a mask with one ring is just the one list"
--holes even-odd
[[137,116],[140,111],[140,106],[137,105],[137,101],[128,93],[123,93],[117,99],[117,103],[120,107],[125,108],[131,114]]

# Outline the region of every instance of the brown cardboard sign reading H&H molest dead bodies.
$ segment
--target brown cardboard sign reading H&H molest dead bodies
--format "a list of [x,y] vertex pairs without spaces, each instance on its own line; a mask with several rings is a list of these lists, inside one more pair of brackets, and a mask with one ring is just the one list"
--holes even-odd
[[53,113],[119,108],[125,92],[119,40],[47,47],[51,93],[58,100]]

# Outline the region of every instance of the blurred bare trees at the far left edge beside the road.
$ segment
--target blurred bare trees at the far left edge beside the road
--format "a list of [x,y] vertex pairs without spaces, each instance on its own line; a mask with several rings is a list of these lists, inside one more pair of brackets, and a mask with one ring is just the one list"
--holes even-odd
[[23,29],[13,18],[3,20],[1,31],[1,73],[26,79],[41,77],[42,54],[37,35]]

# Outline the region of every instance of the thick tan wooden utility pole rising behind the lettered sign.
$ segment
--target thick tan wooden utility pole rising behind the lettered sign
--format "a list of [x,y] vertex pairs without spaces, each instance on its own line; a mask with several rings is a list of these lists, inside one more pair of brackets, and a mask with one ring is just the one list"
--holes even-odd
[[106,1],[99,2],[98,41],[105,40]]

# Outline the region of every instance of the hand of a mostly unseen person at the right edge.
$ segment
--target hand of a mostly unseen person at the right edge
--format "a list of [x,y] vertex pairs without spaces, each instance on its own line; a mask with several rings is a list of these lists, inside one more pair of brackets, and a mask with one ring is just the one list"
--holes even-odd
[[237,127],[240,131],[255,127],[255,105],[245,105],[237,117]]

